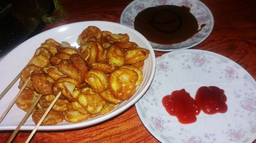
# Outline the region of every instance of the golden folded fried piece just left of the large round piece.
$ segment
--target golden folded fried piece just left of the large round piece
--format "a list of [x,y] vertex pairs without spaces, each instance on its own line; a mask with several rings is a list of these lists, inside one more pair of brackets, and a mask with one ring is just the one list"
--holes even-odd
[[102,93],[108,88],[107,76],[104,72],[90,70],[86,73],[84,80],[97,93]]

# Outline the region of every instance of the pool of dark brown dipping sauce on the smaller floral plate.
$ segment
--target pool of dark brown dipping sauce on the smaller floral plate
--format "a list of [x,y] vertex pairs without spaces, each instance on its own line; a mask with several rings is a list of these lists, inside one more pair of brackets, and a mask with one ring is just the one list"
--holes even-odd
[[197,19],[189,10],[174,5],[150,7],[138,13],[134,28],[154,43],[180,43],[199,32]]

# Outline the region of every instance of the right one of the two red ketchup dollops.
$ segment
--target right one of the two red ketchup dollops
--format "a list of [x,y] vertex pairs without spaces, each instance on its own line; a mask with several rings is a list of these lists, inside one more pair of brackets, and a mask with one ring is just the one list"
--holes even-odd
[[203,112],[208,115],[227,111],[227,97],[224,94],[224,90],[218,87],[210,86],[199,88],[195,100]]

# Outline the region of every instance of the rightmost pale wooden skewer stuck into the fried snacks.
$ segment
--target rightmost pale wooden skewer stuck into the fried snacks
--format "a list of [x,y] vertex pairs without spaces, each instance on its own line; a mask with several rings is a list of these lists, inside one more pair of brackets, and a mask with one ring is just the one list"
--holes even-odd
[[44,115],[42,115],[41,119],[39,120],[39,122],[36,124],[34,130],[30,133],[28,139],[25,141],[25,143],[28,143],[30,141],[30,139],[33,137],[33,135],[35,134],[37,128],[41,125],[42,121],[45,120],[47,114],[49,113],[50,109],[52,108],[52,106],[54,105],[54,103],[57,101],[57,99],[59,98],[59,96],[61,95],[61,92],[59,92],[57,94],[57,96],[54,98],[54,100],[52,101],[52,103],[50,104],[50,106],[47,108],[46,112],[44,113]]

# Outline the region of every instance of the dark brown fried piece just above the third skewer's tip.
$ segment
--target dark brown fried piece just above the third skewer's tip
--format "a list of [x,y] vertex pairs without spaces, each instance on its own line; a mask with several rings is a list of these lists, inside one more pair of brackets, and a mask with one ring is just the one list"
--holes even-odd
[[42,95],[52,95],[52,85],[54,80],[47,74],[32,72],[31,80],[33,88]]

